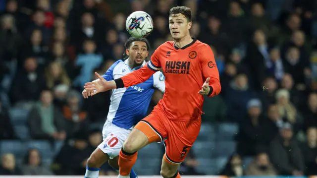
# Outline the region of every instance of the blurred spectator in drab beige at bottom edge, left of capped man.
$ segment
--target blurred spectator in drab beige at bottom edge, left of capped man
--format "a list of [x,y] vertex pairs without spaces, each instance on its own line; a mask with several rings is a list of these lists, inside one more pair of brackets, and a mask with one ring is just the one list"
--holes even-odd
[[248,165],[246,176],[277,176],[277,171],[269,162],[266,153],[259,153]]

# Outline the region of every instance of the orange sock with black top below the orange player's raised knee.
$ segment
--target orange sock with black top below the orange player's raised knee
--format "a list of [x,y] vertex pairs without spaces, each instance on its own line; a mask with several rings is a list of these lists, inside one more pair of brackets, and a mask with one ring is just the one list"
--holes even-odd
[[[132,167],[137,160],[138,153],[127,153],[123,149],[119,153],[119,174],[121,176],[129,176]],[[177,177],[178,178],[178,177]],[[179,177],[180,178],[180,177]]]

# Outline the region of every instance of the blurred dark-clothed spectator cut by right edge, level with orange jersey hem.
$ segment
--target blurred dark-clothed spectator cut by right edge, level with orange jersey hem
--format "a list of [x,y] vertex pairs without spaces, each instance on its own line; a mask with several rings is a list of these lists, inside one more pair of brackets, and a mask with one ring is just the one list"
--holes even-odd
[[308,96],[308,102],[302,106],[301,112],[304,118],[304,131],[310,126],[317,127],[317,93]]

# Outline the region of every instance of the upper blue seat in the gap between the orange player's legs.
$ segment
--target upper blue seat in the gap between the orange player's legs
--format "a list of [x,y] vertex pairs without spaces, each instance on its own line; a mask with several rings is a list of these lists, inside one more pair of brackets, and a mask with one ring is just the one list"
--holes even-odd
[[164,147],[161,143],[151,143],[141,150],[138,151],[138,156],[140,157],[151,157],[151,156],[159,156],[163,155]]

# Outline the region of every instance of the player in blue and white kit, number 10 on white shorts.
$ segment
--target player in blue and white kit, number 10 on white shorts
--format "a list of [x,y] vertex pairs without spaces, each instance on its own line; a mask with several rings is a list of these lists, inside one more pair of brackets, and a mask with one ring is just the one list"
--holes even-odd
[[[125,44],[128,59],[116,61],[103,75],[109,81],[141,68],[149,55],[149,42],[145,38],[129,38]],[[118,169],[118,155],[123,142],[134,125],[147,113],[152,94],[155,89],[165,90],[165,77],[156,72],[147,81],[129,88],[113,89],[111,104],[106,123],[103,128],[104,141],[96,148],[87,161],[85,178],[98,178],[99,168],[108,161],[109,165]],[[90,96],[89,91],[82,92],[84,98]],[[131,171],[130,178],[137,178]]]

